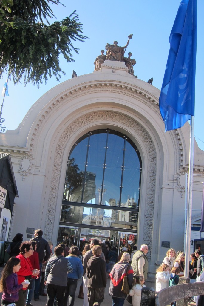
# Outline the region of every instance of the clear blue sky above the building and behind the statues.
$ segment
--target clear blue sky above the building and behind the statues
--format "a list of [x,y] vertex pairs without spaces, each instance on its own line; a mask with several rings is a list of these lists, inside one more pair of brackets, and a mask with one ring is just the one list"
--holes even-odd
[[[106,43],[118,41],[124,46],[128,35],[134,34],[127,47],[126,54],[132,52],[137,64],[134,66],[135,75],[147,81],[153,77],[153,85],[161,89],[166,61],[169,53],[169,35],[180,4],[180,0],[121,0],[111,2],[99,1],[61,1],[65,7],[51,5],[57,20],[69,16],[75,9],[79,20],[83,24],[84,35],[88,36],[84,43],[74,42],[79,54],[74,54],[75,62],[67,63],[61,58],[60,64],[66,76],[61,81],[71,78],[73,69],[77,75],[92,73],[93,62],[105,50]],[[195,139],[199,147],[204,150],[204,135],[202,131],[204,103],[203,80],[204,71],[203,29],[204,29],[204,1],[197,0],[198,31],[197,31],[197,62],[195,88]],[[54,19],[53,19],[54,21]],[[2,91],[6,75],[0,79]],[[9,81],[9,97],[5,97],[3,118],[8,129],[16,129],[23,120],[29,108],[49,89],[59,84],[55,77],[47,81],[38,89],[31,84],[24,87],[22,84],[14,86]],[[2,99],[0,102],[2,104]],[[201,140],[199,140],[199,139]]]

